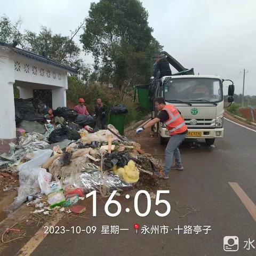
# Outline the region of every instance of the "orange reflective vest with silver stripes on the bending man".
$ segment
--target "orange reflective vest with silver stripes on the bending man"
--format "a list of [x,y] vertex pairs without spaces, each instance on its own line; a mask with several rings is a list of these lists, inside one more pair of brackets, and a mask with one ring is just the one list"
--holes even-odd
[[164,124],[166,129],[170,131],[170,136],[188,130],[187,125],[177,108],[173,105],[166,105],[162,110],[165,110],[169,115],[169,119],[165,121]]

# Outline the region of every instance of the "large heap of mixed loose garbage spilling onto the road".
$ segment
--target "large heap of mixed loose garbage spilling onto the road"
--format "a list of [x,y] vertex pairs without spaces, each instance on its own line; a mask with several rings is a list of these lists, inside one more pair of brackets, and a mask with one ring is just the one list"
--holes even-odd
[[122,137],[113,125],[96,132],[90,126],[76,131],[62,125],[49,137],[21,134],[18,145],[10,146],[9,154],[0,155],[0,167],[19,174],[18,196],[10,212],[28,198],[34,198],[28,204],[35,206],[35,213],[47,215],[54,209],[69,212],[92,190],[107,197],[113,190],[143,187],[144,182],[154,188],[157,179],[152,174],[162,169],[161,163],[138,143]]

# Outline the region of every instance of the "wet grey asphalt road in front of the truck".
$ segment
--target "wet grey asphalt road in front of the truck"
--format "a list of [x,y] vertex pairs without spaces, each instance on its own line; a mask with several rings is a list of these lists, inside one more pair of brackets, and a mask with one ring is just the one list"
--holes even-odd
[[[153,154],[155,158],[164,157],[164,146],[160,146],[157,138],[150,138],[149,132],[140,137],[133,137],[141,143],[142,149]],[[134,195],[131,198],[115,197],[121,205],[122,212],[117,217],[108,217],[104,212],[107,199],[97,201],[98,217],[91,217],[92,204],[87,206],[87,219],[60,221],[57,226],[95,226],[95,234],[49,234],[36,247],[31,255],[256,255],[256,249],[244,249],[244,241],[256,241],[255,218],[253,212],[256,203],[256,133],[236,124],[225,122],[225,137],[215,142],[215,148],[207,148],[205,143],[191,148],[187,143],[181,146],[182,162],[185,170],[171,171],[170,179],[163,181],[163,187],[170,187],[170,194],[161,196],[171,204],[171,212],[167,217],[158,217],[155,210],[165,211],[165,207],[154,205],[147,217],[138,217],[134,211]],[[246,196],[243,202],[239,199],[228,182],[236,182]],[[139,198],[140,211],[146,209],[146,198]],[[254,205],[254,206],[253,206]],[[130,212],[126,213],[125,208]],[[250,208],[251,207],[251,208]],[[195,209],[196,211],[190,212]],[[115,210],[115,207],[111,209]],[[188,213],[190,212],[190,213]],[[188,213],[187,215],[185,215]],[[185,216],[184,216],[185,215]],[[182,217],[182,218],[181,218]],[[147,227],[168,226],[167,234],[135,234],[134,223]],[[101,234],[102,226],[119,226],[119,234]],[[179,225],[178,230],[174,230]],[[211,226],[206,231],[196,234],[183,234],[185,226]],[[172,229],[172,230],[171,230]],[[153,229],[152,229],[153,230]],[[152,231],[149,229],[149,231]],[[141,231],[141,229],[140,229]],[[154,230],[153,230],[154,231]],[[163,231],[163,230],[162,230]],[[159,230],[160,233],[160,230]],[[237,252],[223,250],[223,237],[237,236],[239,249]],[[230,243],[231,241],[229,241]],[[256,242],[253,243],[256,247]],[[236,244],[229,246],[236,249]],[[15,255],[17,249],[7,250],[6,255]],[[13,254],[9,254],[13,253]]]

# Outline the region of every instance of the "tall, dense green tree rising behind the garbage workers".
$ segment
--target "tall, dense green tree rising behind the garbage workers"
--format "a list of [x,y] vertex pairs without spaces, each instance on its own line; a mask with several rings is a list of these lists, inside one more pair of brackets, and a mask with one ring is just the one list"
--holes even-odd
[[85,21],[81,42],[101,70],[100,81],[112,82],[118,89],[148,81],[153,55],[162,46],[151,35],[148,13],[140,1],[92,3]]

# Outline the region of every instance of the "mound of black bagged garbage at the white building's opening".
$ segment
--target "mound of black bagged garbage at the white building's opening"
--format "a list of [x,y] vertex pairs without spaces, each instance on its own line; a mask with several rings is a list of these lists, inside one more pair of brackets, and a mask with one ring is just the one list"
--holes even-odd
[[67,107],[52,110],[34,98],[14,99],[14,104],[18,138],[25,133],[36,132],[44,134],[50,143],[55,143],[65,139],[80,139],[77,131],[83,127],[87,127],[90,132],[98,130],[92,116],[78,115]]

